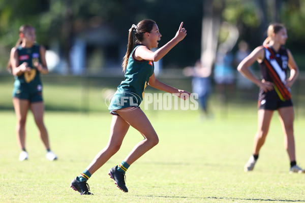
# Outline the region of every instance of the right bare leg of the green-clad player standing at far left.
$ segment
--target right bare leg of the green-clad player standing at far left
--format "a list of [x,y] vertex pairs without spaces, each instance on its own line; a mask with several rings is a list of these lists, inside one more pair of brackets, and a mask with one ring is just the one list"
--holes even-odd
[[50,149],[48,131],[43,122],[44,104],[42,101],[35,102],[35,103],[31,103],[29,105],[29,107],[31,108],[31,110],[33,112],[36,125],[39,129],[39,136],[40,136],[45,148]]

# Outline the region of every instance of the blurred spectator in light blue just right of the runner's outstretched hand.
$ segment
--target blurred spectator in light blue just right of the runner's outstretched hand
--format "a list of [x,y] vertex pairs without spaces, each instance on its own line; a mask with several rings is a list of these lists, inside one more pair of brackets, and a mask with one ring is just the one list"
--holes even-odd
[[198,94],[199,104],[202,109],[201,118],[211,117],[207,104],[211,93],[210,69],[202,66],[201,61],[197,60],[195,66],[185,67],[183,74],[187,77],[192,77],[192,91]]

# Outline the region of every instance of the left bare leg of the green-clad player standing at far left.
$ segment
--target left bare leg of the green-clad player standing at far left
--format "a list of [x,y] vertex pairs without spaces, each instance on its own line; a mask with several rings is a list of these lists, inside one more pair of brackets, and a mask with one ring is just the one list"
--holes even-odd
[[16,135],[20,149],[25,149],[25,121],[29,106],[29,101],[26,99],[13,98],[13,105],[17,117]]

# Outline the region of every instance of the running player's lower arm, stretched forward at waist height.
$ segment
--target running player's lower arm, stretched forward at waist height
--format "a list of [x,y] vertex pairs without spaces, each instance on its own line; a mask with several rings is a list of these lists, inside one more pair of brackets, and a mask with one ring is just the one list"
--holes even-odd
[[[186,99],[186,95],[190,95],[191,93],[185,90],[180,90],[174,87],[171,87],[163,82],[161,82],[160,80],[156,79],[155,73],[153,75],[150,76],[149,81],[148,81],[148,85],[151,87],[155,87],[156,89],[160,89],[162,91],[166,91],[172,94],[176,94],[177,96],[179,96],[180,98]],[[181,95],[182,93],[185,93],[184,95]],[[182,96],[182,97],[181,97]]]

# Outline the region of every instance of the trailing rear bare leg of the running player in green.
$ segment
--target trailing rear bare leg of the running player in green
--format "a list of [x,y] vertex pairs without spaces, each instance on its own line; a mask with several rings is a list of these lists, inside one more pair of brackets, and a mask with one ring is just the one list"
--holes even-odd
[[129,129],[129,124],[120,116],[112,116],[110,137],[107,146],[102,149],[86,168],[93,175],[120,148]]

